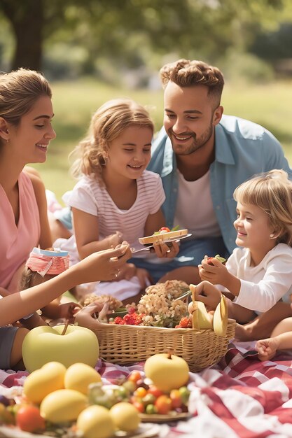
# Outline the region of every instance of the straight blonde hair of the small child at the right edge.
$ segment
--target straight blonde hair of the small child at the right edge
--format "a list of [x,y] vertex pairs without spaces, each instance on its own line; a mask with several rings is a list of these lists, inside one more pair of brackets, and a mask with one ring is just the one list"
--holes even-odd
[[271,170],[239,185],[233,194],[241,204],[258,206],[267,213],[277,243],[292,246],[292,182],[284,170]]

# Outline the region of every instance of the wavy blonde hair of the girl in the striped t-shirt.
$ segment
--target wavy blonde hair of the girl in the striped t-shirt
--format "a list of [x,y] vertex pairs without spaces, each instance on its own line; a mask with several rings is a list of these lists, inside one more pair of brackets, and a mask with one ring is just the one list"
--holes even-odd
[[104,157],[111,141],[129,126],[149,127],[154,132],[148,111],[132,99],[112,99],[92,115],[88,135],[72,151],[69,157],[77,157],[71,166],[71,174],[95,174],[100,178]]

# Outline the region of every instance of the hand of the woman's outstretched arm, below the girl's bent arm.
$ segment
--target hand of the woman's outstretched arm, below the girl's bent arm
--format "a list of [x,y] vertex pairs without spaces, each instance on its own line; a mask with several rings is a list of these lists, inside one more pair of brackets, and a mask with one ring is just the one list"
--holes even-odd
[[76,273],[78,280],[76,284],[111,281],[117,278],[120,269],[131,257],[129,243],[123,242],[115,249],[107,249],[88,255],[70,269]]

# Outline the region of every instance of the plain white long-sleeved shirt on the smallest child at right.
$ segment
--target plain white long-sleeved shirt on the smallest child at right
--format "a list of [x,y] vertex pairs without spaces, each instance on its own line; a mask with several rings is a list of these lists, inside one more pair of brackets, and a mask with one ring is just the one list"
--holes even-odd
[[251,267],[251,253],[247,248],[235,248],[226,262],[231,274],[240,278],[241,287],[233,302],[246,309],[265,312],[279,299],[291,302],[292,248],[279,243],[257,266]]

